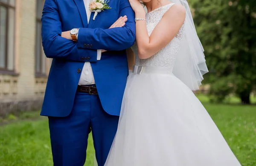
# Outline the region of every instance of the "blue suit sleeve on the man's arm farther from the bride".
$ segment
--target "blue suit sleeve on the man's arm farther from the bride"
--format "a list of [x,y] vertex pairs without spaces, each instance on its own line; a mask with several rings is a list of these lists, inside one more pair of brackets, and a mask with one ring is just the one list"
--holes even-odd
[[[62,26],[56,0],[45,0],[41,20],[42,43],[47,57],[70,61],[97,61],[96,49],[80,48],[78,42],[61,37]],[[90,60],[81,59],[82,55],[90,55]]]

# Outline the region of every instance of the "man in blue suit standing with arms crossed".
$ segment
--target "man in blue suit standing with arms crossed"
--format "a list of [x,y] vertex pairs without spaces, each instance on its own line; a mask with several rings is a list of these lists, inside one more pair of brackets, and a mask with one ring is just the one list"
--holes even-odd
[[[52,66],[41,115],[49,117],[54,166],[83,166],[90,131],[103,166],[118,125],[128,75],[125,49],[135,40],[134,11],[128,0],[110,0],[111,9],[93,19],[89,3],[44,4],[42,42]],[[125,26],[109,29],[121,16],[128,18]]]

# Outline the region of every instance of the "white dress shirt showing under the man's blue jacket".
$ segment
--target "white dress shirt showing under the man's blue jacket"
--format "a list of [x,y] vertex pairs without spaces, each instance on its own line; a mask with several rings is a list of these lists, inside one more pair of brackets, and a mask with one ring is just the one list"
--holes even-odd
[[[89,23],[90,20],[90,14],[91,11],[89,9],[89,0],[84,0],[84,7],[86,10],[87,14],[87,21]],[[79,37],[79,34],[77,34],[77,38]],[[101,50],[97,50],[97,60],[100,60],[101,58]],[[90,65],[90,62],[85,62],[84,67],[81,72],[80,80],[79,80],[79,85],[93,85],[95,84],[94,76],[93,76],[93,69],[92,66]]]

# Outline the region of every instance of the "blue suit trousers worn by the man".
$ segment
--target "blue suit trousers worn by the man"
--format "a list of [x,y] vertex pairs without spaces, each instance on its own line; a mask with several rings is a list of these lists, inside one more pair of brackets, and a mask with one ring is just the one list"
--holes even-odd
[[106,113],[98,95],[76,92],[67,117],[49,117],[54,166],[83,166],[92,131],[96,159],[104,166],[118,126],[118,116]]

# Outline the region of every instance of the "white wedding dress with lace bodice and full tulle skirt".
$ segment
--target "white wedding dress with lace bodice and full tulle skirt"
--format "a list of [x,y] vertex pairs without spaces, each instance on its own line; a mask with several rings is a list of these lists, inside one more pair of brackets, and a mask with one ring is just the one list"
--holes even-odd
[[[146,14],[149,35],[172,5]],[[241,166],[204,106],[172,74],[182,37],[183,27],[154,56],[136,57],[105,166]],[[137,53],[136,43],[132,49]]]

